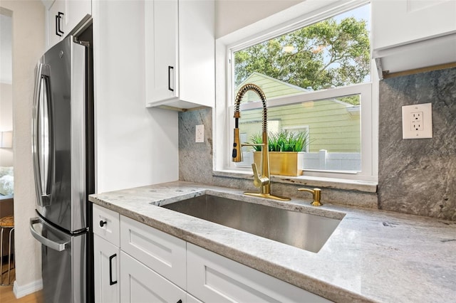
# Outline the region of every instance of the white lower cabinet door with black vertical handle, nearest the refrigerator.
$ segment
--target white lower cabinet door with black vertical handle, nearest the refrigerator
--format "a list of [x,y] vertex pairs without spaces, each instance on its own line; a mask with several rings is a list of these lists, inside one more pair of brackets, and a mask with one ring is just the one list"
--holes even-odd
[[93,235],[95,302],[120,302],[119,248]]

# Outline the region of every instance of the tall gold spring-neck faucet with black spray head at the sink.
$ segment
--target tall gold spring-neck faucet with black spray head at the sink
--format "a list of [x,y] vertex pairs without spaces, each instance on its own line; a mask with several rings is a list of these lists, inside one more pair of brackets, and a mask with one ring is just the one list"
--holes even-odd
[[[260,97],[261,102],[263,102],[263,119],[262,119],[262,132],[261,137],[263,139],[262,144],[242,144],[239,137],[239,118],[241,117],[241,112],[239,107],[241,105],[242,97],[249,90],[253,90]],[[242,147],[245,146],[261,146],[261,171],[258,172],[257,164],[252,163],[252,170],[254,171],[254,186],[260,188],[259,193],[249,193],[244,192],[244,194],[249,196],[257,196],[262,198],[272,198],[275,200],[289,201],[291,200],[288,197],[284,196],[274,196],[271,194],[271,176],[269,174],[269,145],[268,145],[268,132],[267,132],[267,105],[266,105],[266,96],[264,92],[259,88],[258,85],[248,83],[242,86],[237,92],[236,100],[234,101],[234,143],[233,143],[233,152],[232,152],[232,161],[241,162],[242,161]]]

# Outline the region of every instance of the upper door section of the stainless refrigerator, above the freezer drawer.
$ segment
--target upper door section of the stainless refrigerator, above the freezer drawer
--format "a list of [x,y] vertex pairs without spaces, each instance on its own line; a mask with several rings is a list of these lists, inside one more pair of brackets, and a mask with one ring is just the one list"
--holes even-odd
[[86,47],[68,36],[36,71],[33,168],[43,218],[70,233],[86,218]]

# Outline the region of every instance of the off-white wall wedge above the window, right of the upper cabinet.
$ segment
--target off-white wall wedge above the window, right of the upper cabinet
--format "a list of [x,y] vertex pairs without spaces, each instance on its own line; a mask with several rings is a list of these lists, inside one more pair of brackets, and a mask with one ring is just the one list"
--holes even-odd
[[303,1],[306,0],[216,0],[215,38],[225,36]]

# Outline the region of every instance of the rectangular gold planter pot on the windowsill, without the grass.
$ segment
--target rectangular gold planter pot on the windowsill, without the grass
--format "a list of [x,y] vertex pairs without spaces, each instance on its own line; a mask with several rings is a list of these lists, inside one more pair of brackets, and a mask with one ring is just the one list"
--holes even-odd
[[[261,167],[261,151],[254,151],[254,163]],[[269,151],[271,175],[301,176],[304,151]]]

